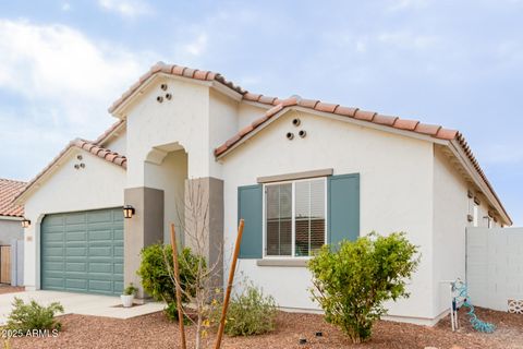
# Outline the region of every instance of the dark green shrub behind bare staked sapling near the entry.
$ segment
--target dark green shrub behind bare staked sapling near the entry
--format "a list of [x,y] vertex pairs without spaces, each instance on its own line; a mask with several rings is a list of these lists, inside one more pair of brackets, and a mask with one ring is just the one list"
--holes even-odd
[[[194,255],[188,248],[179,254],[180,284],[184,292],[194,294],[194,284],[198,261],[205,267],[205,261]],[[142,250],[142,263],[138,276],[142,278],[144,290],[157,301],[168,304],[166,315],[171,320],[178,320],[177,289],[172,276],[172,248],[168,244],[151,244]],[[182,301],[186,301],[186,294],[182,293]]]

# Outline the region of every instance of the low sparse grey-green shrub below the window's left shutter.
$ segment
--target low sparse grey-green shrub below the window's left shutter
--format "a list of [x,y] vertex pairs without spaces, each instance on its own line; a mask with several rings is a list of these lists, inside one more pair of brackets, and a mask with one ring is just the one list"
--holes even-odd
[[[210,323],[218,326],[222,306],[216,306]],[[276,326],[277,304],[271,296],[250,284],[229,302],[224,333],[229,336],[252,336],[272,332]]]

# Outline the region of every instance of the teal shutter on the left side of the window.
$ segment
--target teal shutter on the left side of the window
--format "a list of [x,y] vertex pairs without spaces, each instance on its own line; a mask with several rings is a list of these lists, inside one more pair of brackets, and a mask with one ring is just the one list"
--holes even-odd
[[238,188],[238,220],[245,220],[240,258],[263,256],[263,185]]

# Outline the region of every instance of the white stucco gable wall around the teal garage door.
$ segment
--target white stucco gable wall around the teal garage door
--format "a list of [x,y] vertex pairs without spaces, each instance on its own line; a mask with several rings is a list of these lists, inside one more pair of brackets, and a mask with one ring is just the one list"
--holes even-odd
[[[82,154],[84,169],[75,169]],[[24,284],[39,288],[39,233],[46,214],[119,207],[123,205],[125,170],[90,153],[73,148],[69,156],[25,202],[25,217],[32,225],[25,229]]]

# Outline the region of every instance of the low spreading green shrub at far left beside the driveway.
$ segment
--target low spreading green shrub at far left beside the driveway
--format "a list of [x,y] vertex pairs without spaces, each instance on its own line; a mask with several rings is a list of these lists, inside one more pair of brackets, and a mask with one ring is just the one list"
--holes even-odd
[[42,306],[34,300],[24,303],[22,299],[14,298],[7,328],[23,334],[34,329],[60,330],[62,324],[54,320],[56,313],[63,313],[59,302]]

